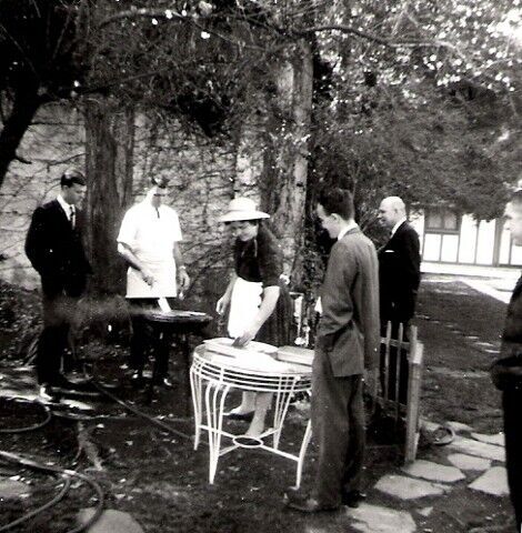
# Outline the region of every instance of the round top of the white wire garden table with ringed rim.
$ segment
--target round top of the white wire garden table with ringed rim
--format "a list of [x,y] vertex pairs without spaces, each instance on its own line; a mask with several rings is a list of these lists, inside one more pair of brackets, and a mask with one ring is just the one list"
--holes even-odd
[[311,388],[312,368],[278,361],[244,349],[244,356],[212,352],[204,344],[194,350],[192,372],[204,380],[262,392],[300,392]]

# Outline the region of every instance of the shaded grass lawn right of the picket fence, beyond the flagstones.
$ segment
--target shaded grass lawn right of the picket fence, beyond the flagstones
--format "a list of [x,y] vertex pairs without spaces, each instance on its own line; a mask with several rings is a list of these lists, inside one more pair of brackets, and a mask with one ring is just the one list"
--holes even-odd
[[414,321],[424,343],[423,415],[498,432],[500,394],[488,369],[500,348],[506,305],[463,282],[442,280],[423,280]]

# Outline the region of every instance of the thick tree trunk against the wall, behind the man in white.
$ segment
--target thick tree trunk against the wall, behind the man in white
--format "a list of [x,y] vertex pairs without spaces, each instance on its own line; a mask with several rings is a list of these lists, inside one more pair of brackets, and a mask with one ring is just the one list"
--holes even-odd
[[117,237],[131,202],[134,113],[109,102],[89,102],[86,134],[87,240],[94,271],[91,292],[124,294],[126,265],[117,251]]

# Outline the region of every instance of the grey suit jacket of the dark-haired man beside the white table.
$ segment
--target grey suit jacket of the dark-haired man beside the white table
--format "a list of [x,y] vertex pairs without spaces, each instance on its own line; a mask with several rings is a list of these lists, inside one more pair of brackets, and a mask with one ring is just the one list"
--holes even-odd
[[315,344],[335,378],[373,368],[380,342],[378,259],[359,228],[338,241],[321,288],[322,315]]

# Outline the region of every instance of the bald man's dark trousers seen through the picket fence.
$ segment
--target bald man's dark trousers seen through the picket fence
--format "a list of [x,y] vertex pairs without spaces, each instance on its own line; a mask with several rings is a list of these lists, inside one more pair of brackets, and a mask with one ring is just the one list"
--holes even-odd
[[[403,324],[403,334],[402,340],[403,342],[408,342],[408,328],[409,323]],[[381,326],[381,336],[387,336],[387,324],[382,324]],[[391,339],[398,340],[399,339],[399,322],[392,322],[391,328]],[[381,344],[381,362],[380,362],[380,375],[381,375],[381,388],[382,393],[384,394],[385,384],[387,384],[387,376],[385,376],[385,353],[387,346]],[[396,399],[396,386],[399,384],[399,402],[403,403],[404,405],[408,402],[408,380],[410,375],[410,369],[408,365],[408,351],[404,349],[398,350],[395,346],[390,346],[390,355],[389,355],[389,365],[388,365],[388,400],[395,400]],[[400,359],[400,370],[399,376],[396,372],[396,360]],[[399,380],[399,383],[398,383]]]

